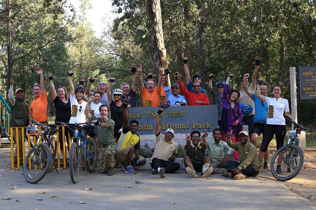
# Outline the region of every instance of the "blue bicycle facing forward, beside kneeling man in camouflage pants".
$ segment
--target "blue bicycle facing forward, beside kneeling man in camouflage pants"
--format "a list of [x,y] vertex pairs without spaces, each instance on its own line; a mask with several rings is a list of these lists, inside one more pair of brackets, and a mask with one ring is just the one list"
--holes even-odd
[[90,127],[90,124],[92,123],[56,123],[67,126],[69,129],[75,131],[75,136],[71,139],[69,168],[72,183],[77,183],[79,178],[81,156],[84,158],[83,161],[86,162],[87,170],[90,173],[94,172],[95,166],[99,168],[98,164],[96,163],[95,143],[93,138],[87,138],[87,136],[82,135],[80,132],[78,132],[77,129],[77,126],[84,125],[83,129],[85,130],[85,134],[87,134],[87,130]]

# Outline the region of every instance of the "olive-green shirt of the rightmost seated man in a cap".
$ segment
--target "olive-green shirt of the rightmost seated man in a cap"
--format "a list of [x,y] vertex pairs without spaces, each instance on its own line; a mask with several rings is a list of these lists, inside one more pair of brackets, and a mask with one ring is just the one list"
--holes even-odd
[[252,143],[247,142],[245,146],[242,146],[240,142],[234,143],[230,138],[226,138],[226,142],[228,146],[235,150],[238,150],[240,165],[237,168],[239,168],[239,170],[246,169],[247,166],[252,165],[258,166],[258,168],[260,169],[258,152],[256,147]]

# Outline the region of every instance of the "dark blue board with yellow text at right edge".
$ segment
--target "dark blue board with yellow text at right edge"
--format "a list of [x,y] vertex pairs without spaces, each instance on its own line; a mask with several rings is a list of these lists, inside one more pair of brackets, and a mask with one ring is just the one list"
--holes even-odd
[[300,67],[301,99],[316,98],[316,67]]

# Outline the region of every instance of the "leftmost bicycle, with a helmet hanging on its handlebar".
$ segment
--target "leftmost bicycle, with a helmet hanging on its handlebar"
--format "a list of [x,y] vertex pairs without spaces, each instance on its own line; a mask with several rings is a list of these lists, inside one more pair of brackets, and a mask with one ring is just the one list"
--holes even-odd
[[[28,126],[27,131],[31,131],[28,132],[28,135],[36,136],[37,142],[27,153],[23,164],[23,175],[28,183],[34,184],[42,180],[49,170],[52,171],[52,166],[55,166],[57,138],[50,136],[61,132],[61,130],[56,129],[57,126],[54,124],[45,126],[36,120],[31,120],[33,124]],[[38,126],[42,127],[40,135],[38,135]],[[42,142],[40,142],[40,139],[42,139]],[[50,149],[51,146],[52,151]],[[56,166],[55,170],[59,173]]]

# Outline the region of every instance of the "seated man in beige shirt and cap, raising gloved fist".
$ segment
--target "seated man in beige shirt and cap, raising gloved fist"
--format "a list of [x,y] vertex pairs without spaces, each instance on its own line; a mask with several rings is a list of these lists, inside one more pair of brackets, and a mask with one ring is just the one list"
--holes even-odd
[[151,157],[150,165],[153,169],[153,174],[159,173],[160,178],[165,177],[166,173],[178,171],[180,168],[179,163],[174,163],[174,159],[178,155],[178,143],[173,141],[174,131],[168,128],[164,137],[161,134],[161,113],[162,108],[157,111],[156,119],[156,145],[154,154]]

